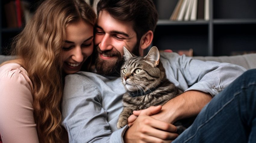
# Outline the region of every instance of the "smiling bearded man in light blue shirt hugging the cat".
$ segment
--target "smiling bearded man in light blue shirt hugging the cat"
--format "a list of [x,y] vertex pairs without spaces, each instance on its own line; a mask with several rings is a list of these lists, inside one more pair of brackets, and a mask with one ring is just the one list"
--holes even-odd
[[101,0],[97,11],[97,74],[78,72],[65,78],[62,117],[70,142],[171,142],[178,136],[171,123],[197,115],[245,71],[237,65],[161,53],[167,78],[186,91],[162,108],[134,112],[129,118],[133,124],[118,130],[125,93],[119,74],[123,46],[142,56],[152,42],[158,15],[151,0]]

